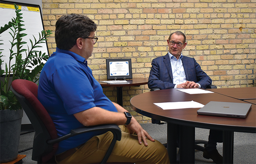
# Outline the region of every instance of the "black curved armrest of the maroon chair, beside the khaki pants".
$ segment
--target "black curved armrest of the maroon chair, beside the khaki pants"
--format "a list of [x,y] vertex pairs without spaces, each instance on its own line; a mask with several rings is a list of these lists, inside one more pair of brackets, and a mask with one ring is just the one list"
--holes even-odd
[[66,134],[60,138],[47,140],[47,144],[55,144],[62,140],[76,136],[78,134],[87,133],[87,132],[95,132],[95,131],[101,131],[103,133],[110,131],[113,133],[114,136],[116,136],[116,139],[118,141],[121,140],[122,135],[121,135],[120,128],[115,124],[106,124],[106,125],[84,126],[81,128],[73,129],[70,131],[69,134]]

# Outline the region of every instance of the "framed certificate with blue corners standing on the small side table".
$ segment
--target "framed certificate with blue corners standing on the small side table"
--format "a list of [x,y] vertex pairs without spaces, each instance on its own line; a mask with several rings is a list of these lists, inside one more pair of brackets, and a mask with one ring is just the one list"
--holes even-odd
[[107,79],[132,79],[131,59],[107,59]]

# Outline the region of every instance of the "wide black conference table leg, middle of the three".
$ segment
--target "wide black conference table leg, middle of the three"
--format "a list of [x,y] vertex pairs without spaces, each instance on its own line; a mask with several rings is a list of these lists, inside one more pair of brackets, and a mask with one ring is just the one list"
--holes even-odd
[[195,163],[195,127],[180,125],[180,163]]

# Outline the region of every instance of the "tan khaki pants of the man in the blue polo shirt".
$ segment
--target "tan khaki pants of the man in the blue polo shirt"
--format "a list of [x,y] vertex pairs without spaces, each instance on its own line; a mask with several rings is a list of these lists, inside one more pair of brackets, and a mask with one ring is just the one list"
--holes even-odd
[[[145,146],[143,141],[140,145],[137,135],[129,134],[124,125],[119,127],[122,138],[121,141],[116,141],[107,163],[170,163],[167,150],[159,141],[152,142],[148,139],[148,146]],[[112,139],[111,132],[94,136],[74,154],[57,163],[99,163],[105,156]]]

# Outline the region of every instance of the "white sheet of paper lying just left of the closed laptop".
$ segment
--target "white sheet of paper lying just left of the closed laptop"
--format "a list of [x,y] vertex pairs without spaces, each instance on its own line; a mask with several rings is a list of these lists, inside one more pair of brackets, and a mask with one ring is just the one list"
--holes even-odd
[[[185,90],[185,89],[184,89]],[[184,109],[184,108],[202,108],[203,104],[197,103],[195,101],[184,101],[184,102],[167,102],[167,103],[154,103],[163,110],[168,109]]]

